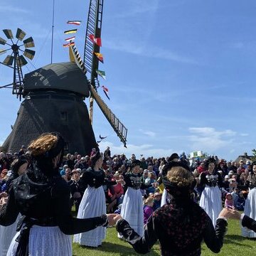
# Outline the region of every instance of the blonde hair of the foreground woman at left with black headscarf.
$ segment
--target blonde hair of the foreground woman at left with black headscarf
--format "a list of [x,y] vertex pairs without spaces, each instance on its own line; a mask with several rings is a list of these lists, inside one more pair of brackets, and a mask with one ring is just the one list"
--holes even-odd
[[28,145],[31,155],[39,156],[49,151],[58,142],[58,137],[53,134],[42,134]]

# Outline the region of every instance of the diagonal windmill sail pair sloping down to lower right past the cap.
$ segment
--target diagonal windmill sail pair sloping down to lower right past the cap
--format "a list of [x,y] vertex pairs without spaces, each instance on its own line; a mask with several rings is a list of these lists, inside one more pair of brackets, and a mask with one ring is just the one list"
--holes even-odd
[[[78,53],[78,50],[75,48],[75,46],[70,46],[69,53],[70,53],[70,61],[77,63],[78,67],[85,74],[86,73],[85,64],[82,63],[80,54]],[[96,80],[96,82],[98,81]],[[100,107],[100,110],[102,110],[103,114],[107,118],[107,121],[110,123],[110,125],[114,129],[114,132],[117,133],[117,136],[126,147],[127,128],[124,127],[124,124],[122,124],[122,122],[120,122],[120,120],[115,116],[115,114],[110,110],[110,108],[107,107],[106,103],[102,100],[100,95],[98,95],[97,91],[92,86],[91,82],[90,82],[89,88],[90,88],[92,98],[95,99],[95,101],[97,102],[97,105],[99,105]]]

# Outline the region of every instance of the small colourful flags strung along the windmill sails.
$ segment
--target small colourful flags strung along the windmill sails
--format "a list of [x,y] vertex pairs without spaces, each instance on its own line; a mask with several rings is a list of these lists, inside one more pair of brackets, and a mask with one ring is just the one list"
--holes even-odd
[[[67,24],[69,25],[75,25],[75,26],[80,26],[82,21],[67,21]],[[78,29],[75,28],[75,29],[70,29],[70,30],[67,30],[67,31],[64,31],[65,34],[70,34],[70,33],[77,33]],[[95,35],[93,34],[90,34],[89,35],[89,38],[90,38],[90,41],[92,41],[92,43],[95,43],[97,44],[97,46],[102,46],[102,41],[101,41],[101,38],[95,38]],[[65,39],[66,42],[68,43],[64,43],[63,44],[63,47],[69,47],[69,46],[75,46],[75,36],[71,36],[69,38],[66,38]],[[103,60],[103,55],[102,53],[95,53],[95,52],[92,52],[93,55],[95,55],[95,57],[101,62],[101,63],[104,63],[104,60]],[[95,70],[97,75],[100,75],[101,78],[103,79],[106,79],[106,74],[105,74],[105,71],[103,70]],[[108,95],[108,89],[107,87],[105,87],[104,85],[102,85],[102,90],[103,92],[105,93],[106,97],[110,100],[110,97]]]

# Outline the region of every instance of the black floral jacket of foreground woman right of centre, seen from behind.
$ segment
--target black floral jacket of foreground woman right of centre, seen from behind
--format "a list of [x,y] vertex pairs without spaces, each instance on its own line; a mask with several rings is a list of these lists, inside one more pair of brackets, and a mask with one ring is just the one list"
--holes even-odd
[[201,242],[213,252],[220,252],[228,223],[218,219],[215,229],[207,213],[196,203],[181,209],[174,205],[165,205],[156,210],[144,225],[144,236],[140,237],[126,220],[117,222],[117,231],[139,253],[149,252],[159,240],[161,255],[197,256],[201,255]]

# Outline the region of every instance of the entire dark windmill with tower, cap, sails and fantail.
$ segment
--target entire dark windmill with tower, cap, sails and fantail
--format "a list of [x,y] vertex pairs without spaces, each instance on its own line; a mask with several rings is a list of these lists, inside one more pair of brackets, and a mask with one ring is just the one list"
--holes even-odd
[[[127,129],[97,93],[99,81],[95,69],[98,67],[98,60],[92,52],[100,52],[100,49],[88,38],[89,33],[95,37],[100,36],[102,8],[103,0],[90,0],[83,61],[75,46],[70,46],[70,62],[46,65],[27,73],[23,78],[21,66],[26,65],[26,60],[19,51],[32,59],[35,52],[27,48],[32,47],[33,38],[23,41],[25,50],[21,50],[21,46],[16,44],[18,53],[14,50],[15,43],[11,46],[0,38],[2,45],[7,44],[13,50],[1,64],[14,68],[14,82],[3,87],[12,87],[13,94],[20,99],[24,98],[14,127],[2,145],[4,151],[18,151],[22,144],[27,145],[41,133],[58,131],[65,139],[66,152],[89,154],[92,147],[97,146],[92,130],[93,100],[97,102],[124,146],[126,145]],[[5,34],[6,31],[10,30],[4,30]],[[26,35],[25,32],[23,34]],[[6,37],[11,38],[12,42],[10,32],[8,35]],[[0,53],[6,53],[7,50],[0,50]],[[13,59],[14,63],[11,63],[10,59]],[[87,71],[91,73],[90,80],[85,75]],[[90,97],[90,112],[85,105],[85,97]]]

